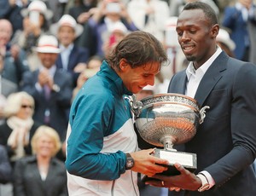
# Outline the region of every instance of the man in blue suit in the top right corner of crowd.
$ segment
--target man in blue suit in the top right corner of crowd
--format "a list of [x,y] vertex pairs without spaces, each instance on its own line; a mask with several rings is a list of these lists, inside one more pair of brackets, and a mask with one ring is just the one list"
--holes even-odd
[[233,50],[236,58],[256,63],[256,4],[253,0],[234,2],[224,9],[222,26],[230,30],[230,37],[236,43]]

